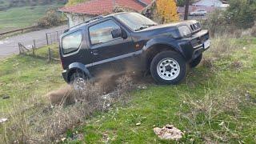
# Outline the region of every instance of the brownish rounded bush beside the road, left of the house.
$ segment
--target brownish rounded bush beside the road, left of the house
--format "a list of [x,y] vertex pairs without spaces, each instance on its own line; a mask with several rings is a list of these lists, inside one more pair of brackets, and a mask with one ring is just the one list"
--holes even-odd
[[38,26],[39,27],[50,27],[50,26],[58,26],[61,22],[61,17],[56,14],[54,10],[49,10],[46,13],[46,16],[39,19]]

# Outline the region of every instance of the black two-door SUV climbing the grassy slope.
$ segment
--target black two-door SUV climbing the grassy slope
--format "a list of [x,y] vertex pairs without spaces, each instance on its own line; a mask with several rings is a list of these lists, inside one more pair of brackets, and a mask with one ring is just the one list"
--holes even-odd
[[158,83],[178,84],[187,66],[197,66],[209,47],[208,30],[194,20],[158,25],[137,13],[99,16],[62,34],[62,75],[81,86],[106,70],[141,70]]

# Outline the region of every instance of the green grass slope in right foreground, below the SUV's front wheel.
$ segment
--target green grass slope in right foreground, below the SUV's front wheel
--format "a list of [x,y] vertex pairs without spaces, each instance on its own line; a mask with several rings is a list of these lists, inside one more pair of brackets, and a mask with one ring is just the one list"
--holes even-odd
[[[173,124],[185,131],[180,140],[185,143],[256,142],[256,39],[250,45],[237,42],[247,49],[214,61],[214,70],[198,66],[181,85],[134,91],[129,106],[95,114],[76,130],[85,135],[86,143],[104,143],[103,134],[110,143],[175,143],[157,138],[153,131]],[[242,68],[232,66],[236,61]],[[136,126],[137,122],[142,124]]]

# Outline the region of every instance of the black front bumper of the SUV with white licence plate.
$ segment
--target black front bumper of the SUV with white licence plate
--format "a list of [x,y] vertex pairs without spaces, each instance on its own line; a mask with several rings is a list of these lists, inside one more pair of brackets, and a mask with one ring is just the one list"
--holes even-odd
[[[201,30],[193,34],[191,38],[186,38],[186,42],[182,42],[180,47],[187,62],[191,62],[194,58],[198,58],[205,50],[210,48],[210,34],[208,30]],[[205,44],[207,43],[207,46]]]

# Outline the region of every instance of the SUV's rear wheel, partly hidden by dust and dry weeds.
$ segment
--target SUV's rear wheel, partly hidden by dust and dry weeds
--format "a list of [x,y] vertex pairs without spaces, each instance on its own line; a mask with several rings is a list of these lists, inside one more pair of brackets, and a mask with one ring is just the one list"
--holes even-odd
[[76,71],[70,77],[70,85],[74,87],[74,90],[85,90],[87,80],[86,74]]

